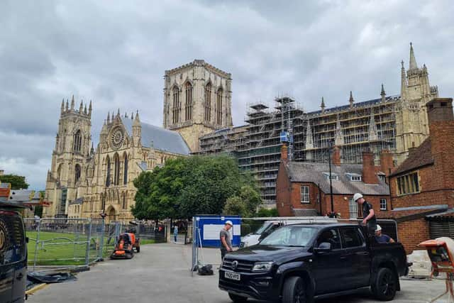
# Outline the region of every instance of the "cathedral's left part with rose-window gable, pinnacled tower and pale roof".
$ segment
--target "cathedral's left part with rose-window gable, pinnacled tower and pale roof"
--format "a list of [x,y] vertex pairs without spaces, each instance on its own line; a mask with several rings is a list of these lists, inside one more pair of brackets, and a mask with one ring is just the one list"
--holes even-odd
[[104,121],[95,151],[91,115],[91,102],[88,111],[82,102],[74,109],[74,97],[70,107],[62,103],[45,191],[52,204],[43,216],[100,218],[104,210],[108,221],[129,221],[135,177],[167,159],[189,155],[189,148],[179,133],[143,123],[138,113],[130,118],[118,111]]

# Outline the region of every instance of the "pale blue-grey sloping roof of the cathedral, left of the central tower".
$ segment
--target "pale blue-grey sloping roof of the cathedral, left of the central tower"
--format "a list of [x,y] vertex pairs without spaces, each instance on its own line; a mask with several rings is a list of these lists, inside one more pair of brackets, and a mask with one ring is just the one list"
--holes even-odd
[[[133,120],[123,118],[121,121],[123,122],[128,135],[131,136],[133,133]],[[189,155],[190,150],[186,142],[184,142],[183,137],[176,131],[170,131],[143,122],[140,122],[140,125],[142,126],[142,138],[140,139],[142,146],[150,148],[150,145],[153,142],[153,147],[157,150],[180,155]]]

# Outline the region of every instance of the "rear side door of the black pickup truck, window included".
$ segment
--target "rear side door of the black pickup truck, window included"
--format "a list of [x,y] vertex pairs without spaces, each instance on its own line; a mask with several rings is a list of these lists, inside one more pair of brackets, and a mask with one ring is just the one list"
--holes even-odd
[[341,227],[342,246],[345,250],[347,282],[352,288],[369,285],[370,253],[359,227]]

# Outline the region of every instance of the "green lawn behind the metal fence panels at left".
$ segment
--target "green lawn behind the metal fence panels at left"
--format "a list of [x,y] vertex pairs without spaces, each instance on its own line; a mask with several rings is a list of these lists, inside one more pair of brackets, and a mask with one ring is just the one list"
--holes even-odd
[[[36,254],[36,265],[84,265],[87,251],[87,235],[77,233],[55,233],[40,231],[40,243]],[[28,241],[28,265],[33,265],[35,260],[36,231],[27,231]],[[92,237],[90,241],[89,261],[96,260],[100,239]],[[114,239],[107,244],[108,238],[104,237],[103,257],[107,258],[114,250]],[[74,243],[76,242],[76,243]],[[141,245],[155,243],[154,240],[142,239]]]

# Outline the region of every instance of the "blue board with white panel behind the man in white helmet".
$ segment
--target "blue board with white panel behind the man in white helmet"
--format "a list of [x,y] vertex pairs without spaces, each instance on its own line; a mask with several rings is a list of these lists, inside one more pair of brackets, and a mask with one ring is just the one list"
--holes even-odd
[[238,247],[241,242],[241,218],[240,216],[211,216],[201,215],[195,216],[196,219],[196,244],[203,247],[221,247],[219,232],[230,220],[233,227],[230,229],[232,235],[232,246]]

